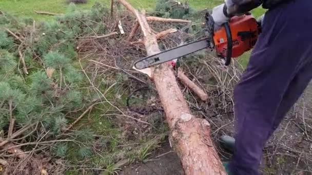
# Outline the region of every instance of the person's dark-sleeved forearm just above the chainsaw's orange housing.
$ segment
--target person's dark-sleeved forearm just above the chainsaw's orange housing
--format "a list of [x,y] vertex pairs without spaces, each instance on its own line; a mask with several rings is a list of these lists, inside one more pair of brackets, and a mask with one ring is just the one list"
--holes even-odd
[[225,0],[223,13],[227,17],[242,15],[259,7],[263,0]]

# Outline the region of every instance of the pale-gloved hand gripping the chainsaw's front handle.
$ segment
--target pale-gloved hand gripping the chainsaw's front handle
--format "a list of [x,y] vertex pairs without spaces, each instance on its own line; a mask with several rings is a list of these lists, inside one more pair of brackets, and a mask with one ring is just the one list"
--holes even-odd
[[212,18],[214,20],[214,31],[221,28],[222,24],[226,23],[230,18],[226,17],[224,14],[225,4],[221,4],[212,9]]

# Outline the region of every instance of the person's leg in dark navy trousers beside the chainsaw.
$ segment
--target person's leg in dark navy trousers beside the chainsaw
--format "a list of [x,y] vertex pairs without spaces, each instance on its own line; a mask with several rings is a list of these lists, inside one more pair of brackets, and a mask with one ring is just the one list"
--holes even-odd
[[[287,105],[284,102],[288,98],[285,95],[287,91],[293,89],[291,82],[296,81],[297,73],[311,60],[312,38],[305,37],[308,29],[305,29],[304,23],[296,21],[297,13],[302,8],[307,10],[305,6],[308,3],[295,1],[289,6],[269,11],[264,18],[263,32],[234,92],[237,133],[230,163],[233,174],[259,174],[262,149],[272,133],[272,127],[283,118],[277,116],[283,116],[288,106],[296,101],[287,102]],[[293,21],[296,21],[295,25]],[[302,84],[302,87],[305,86],[305,83]],[[293,99],[300,94],[299,90],[296,92]]]

